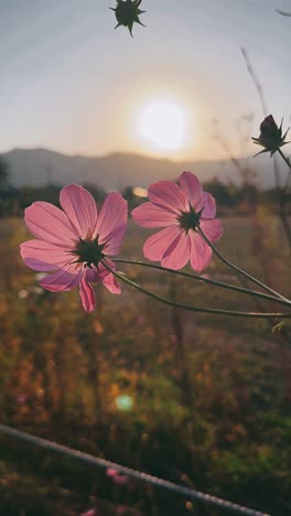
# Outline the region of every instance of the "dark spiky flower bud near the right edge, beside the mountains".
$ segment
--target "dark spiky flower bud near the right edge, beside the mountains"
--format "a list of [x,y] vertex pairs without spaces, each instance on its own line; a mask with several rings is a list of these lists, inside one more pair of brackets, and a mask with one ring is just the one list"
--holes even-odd
[[280,147],[289,143],[289,141],[284,140],[290,128],[288,128],[284,135],[282,135],[282,123],[283,120],[281,121],[280,127],[278,127],[272,115],[269,115],[265,120],[262,120],[259,138],[251,138],[254,143],[263,147],[263,150],[258,152],[256,155],[262,154],[263,152],[270,152],[270,155],[272,157]]

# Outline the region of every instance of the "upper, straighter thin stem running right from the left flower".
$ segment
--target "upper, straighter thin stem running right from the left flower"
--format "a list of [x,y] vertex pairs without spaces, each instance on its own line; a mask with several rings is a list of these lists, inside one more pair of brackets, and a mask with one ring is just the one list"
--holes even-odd
[[222,281],[216,281],[216,280],[211,280],[208,278],[203,278],[203,276],[193,275],[193,273],[190,273],[190,272],[183,272],[181,270],[173,270],[173,269],[169,269],[168,267],[162,267],[162,266],[158,266],[158,265],[154,265],[154,264],[147,264],[146,261],[140,261],[140,260],[127,260],[127,259],[117,258],[117,259],[114,259],[112,261],[115,261],[115,264],[130,264],[130,265],[137,265],[137,266],[141,266],[141,267],[148,267],[150,269],[162,270],[164,272],[171,272],[173,275],[182,276],[184,278],[190,278],[190,279],[195,279],[197,281],[203,281],[205,283],[213,284],[214,287],[220,287],[223,289],[234,290],[236,292],[240,292],[240,293],[244,293],[244,294],[256,295],[257,298],[261,298],[261,299],[265,299],[267,301],[277,302],[279,304],[283,304],[284,307],[291,307],[291,301],[279,299],[279,298],[276,298],[274,295],[268,295],[268,294],[265,294],[263,292],[258,292],[257,290],[251,290],[251,289],[238,287],[238,286],[235,286],[235,284],[224,283]]

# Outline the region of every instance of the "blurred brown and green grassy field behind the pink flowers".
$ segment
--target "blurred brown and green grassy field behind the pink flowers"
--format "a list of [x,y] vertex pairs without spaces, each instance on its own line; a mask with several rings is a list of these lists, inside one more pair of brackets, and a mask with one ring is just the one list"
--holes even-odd
[[[224,227],[219,250],[290,295],[278,219],[260,208],[225,218]],[[148,235],[130,224],[122,257],[141,259]],[[28,237],[20,219],[0,219],[1,422],[272,515],[290,514],[291,329],[272,333],[276,322],[182,312],[128,287],[120,297],[98,287],[96,311],[85,314],[77,292],[37,287],[19,257]],[[248,295],[119,269],[173,299],[257,310]],[[206,273],[240,284],[217,259]],[[93,507],[100,516],[225,514],[0,441],[0,514],[74,516]]]

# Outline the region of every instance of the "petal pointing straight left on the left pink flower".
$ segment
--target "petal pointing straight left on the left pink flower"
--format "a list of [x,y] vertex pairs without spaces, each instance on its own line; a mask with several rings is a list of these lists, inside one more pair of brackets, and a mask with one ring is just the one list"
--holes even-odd
[[20,245],[20,255],[24,264],[33,270],[48,272],[73,261],[63,247],[44,240],[28,240]]

